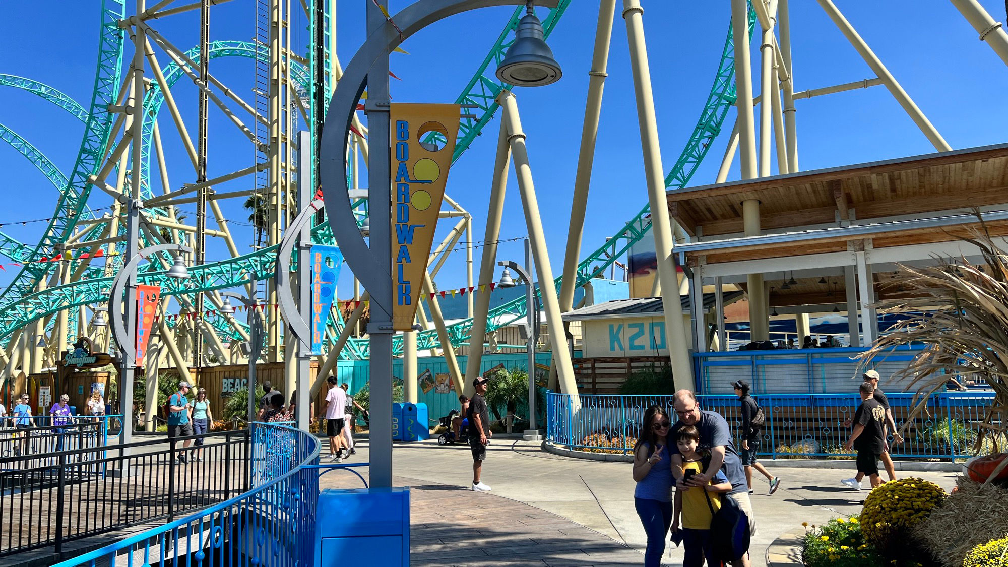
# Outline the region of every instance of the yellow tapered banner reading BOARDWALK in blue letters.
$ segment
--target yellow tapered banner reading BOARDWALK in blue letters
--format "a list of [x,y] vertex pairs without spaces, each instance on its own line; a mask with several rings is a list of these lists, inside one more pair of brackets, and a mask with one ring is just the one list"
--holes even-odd
[[458,104],[391,105],[392,328],[409,331],[459,135]]

